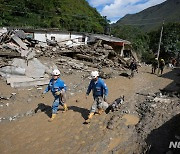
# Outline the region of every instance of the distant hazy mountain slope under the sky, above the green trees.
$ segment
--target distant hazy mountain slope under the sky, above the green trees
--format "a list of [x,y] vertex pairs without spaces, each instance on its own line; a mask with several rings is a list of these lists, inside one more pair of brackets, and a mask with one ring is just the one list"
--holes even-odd
[[180,0],[167,0],[139,13],[128,14],[118,20],[113,26],[132,25],[144,31],[150,31],[162,25],[163,20],[165,23],[180,22],[179,10]]

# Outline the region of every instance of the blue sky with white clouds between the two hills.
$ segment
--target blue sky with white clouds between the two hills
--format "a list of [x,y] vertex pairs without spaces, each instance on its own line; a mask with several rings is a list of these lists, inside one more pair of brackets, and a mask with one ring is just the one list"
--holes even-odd
[[160,4],[166,0],[87,0],[102,16],[107,16],[111,23],[116,22],[126,14],[138,13],[148,7]]

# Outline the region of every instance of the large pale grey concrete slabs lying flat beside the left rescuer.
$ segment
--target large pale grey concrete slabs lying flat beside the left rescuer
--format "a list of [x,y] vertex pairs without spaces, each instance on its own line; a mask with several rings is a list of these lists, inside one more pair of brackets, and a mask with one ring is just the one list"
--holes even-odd
[[[56,66],[52,66],[55,69]],[[27,87],[48,84],[48,73],[52,69],[43,65],[37,58],[26,62],[24,59],[14,58],[8,66],[0,68],[0,75],[6,79],[11,87]]]

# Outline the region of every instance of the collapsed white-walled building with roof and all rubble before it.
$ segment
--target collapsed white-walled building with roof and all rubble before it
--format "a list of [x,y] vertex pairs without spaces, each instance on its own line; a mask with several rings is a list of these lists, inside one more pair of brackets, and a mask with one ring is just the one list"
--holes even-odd
[[[43,63],[40,57],[58,58]],[[7,28],[0,29],[0,58],[0,75],[11,87],[48,84],[59,65],[121,71],[131,58],[137,60],[129,41],[108,35]]]

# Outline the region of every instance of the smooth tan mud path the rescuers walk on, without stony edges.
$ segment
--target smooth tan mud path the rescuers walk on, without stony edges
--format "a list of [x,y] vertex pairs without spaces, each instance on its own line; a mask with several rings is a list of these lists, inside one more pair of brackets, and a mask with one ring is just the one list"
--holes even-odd
[[[171,79],[150,74],[150,71],[149,66],[144,66],[132,79],[119,76],[106,80],[109,88],[108,101],[112,102],[124,95],[127,108],[133,114],[135,102],[140,99],[137,93],[155,93],[173,82]],[[66,81],[65,78],[64,80]],[[1,87],[0,93],[9,88],[3,81]],[[85,99],[85,91],[71,96],[68,99],[69,111],[62,113],[60,110],[51,123],[48,122],[47,112],[0,123],[1,153],[107,153],[123,144],[129,138],[129,132],[126,127],[108,130],[106,126],[111,114],[94,116],[90,124],[83,124],[92,101],[91,95]],[[51,102],[52,97],[48,94],[45,98],[37,97],[28,107],[35,109],[38,103],[51,106]],[[14,104],[12,107],[21,108],[21,105]],[[0,110],[0,114],[7,111]]]

